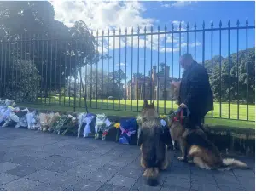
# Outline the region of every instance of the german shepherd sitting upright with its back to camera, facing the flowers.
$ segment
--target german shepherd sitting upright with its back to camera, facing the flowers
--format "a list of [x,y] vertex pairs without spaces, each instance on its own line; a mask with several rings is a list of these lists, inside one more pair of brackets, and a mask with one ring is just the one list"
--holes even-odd
[[154,109],[154,102],[148,105],[144,100],[141,112],[142,124],[139,135],[141,142],[141,166],[146,168],[143,176],[148,185],[158,185],[157,177],[160,170],[165,170],[169,164],[167,145],[163,139],[163,128],[158,113]]

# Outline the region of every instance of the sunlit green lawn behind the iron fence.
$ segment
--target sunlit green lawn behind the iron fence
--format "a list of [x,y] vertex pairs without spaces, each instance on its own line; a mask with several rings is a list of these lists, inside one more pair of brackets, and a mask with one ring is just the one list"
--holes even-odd
[[[64,99],[63,97],[59,98],[58,96],[56,96],[51,97],[50,99],[38,99],[38,102],[35,104],[19,103],[19,105],[49,111],[74,111],[74,103],[76,105],[76,111],[85,111],[84,99],[77,98],[76,100],[74,100],[73,97],[66,97]],[[169,111],[171,111],[172,107],[174,110],[177,109],[176,103],[172,101],[166,101],[165,103],[164,100],[159,100],[158,102],[155,101],[154,105],[158,108],[160,114],[168,114]],[[140,111],[143,107],[143,100],[87,100],[87,106],[90,112],[96,114],[105,113],[106,115],[113,116],[121,115],[136,117],[137,112]],[[238,111],[240,120],[235,120],[237,119]],[[255,121],[255,105],[248,106],[247,115],[247,105],[237,106],[237,104],[230,104],[229,106],[228,103],[222,103],[220,111],[220,104],[218,102],[214,103],[214,111],[208,112],[205,119],[205,123],[209,125],[224,125],[230,127],[254,129],[255,123],[252,121]]]

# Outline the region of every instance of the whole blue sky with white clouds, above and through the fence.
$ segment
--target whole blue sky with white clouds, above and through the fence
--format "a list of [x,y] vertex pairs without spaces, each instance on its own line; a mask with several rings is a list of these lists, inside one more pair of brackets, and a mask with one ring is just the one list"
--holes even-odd
[[[131,27],[134,28],[133,33],[137,33],[138,26],[140,26],[141,34],[144,33],[144,28],[148,33],[151,27],[153,27],[154,32],[158,31],[158,26],[160,26],[160,32],[164,32],[166,26],[166,35],[161,34],[159,38],[158,35],[151,36],[150,34],[146,37],[144,35],[134,36],[132,42],[131,36],[126,39],[125,37],[116,37],[114,40],[113,37],[110,37],[109,43],[108,37],[98,39],[100,54],[108,54],[109,52],[112,57],[114,54],[114,58],[109,60],[109,65],[108,60],[98,63],[99,71],[102,71],[102,65],[103,71],[107,71],[108,67],[109,71],[116,71],[120,66],[123,71],[126,69],[128,79],[131,79],[132,73],[141,72],[144,74],[145,72],[148,75],[151,66],[160,62],[166,62],[168,66],[171,66],[171,76],[181,77],[182,70],[179,69],[178,58],[179,54],[186,52],[191,53],[198,62],[202,62],[203,51],[205,60],[209,60],[215,55],[227,57],[229,46],[230,54],[237,52],[236,29],[230,30],[229,44],[229,32],[226,29],[213,32],[206,31],[203,42],[201,31],[196,32],[196,37],[195,32],[183,32],[180,36],[178,33],[174,33],[172,37],[172,26],[174,27],[173,30],[177,32],[179,31],[179,24],[181,24],[181,30],[186,31],[187,25],[189,25],[189,30],[194,30],[196,23],[196,29],[201,30],[202,24],[205,22],[205,29],[211,29],[211,22],[213,22],[213,28],[218,28],[221,20],[221,27],[226,28],[229,20],[230,27],[236,27],[237,20],[240,20],[240,26],[246,26],[247,19],[248,26],[254,26],[255,16],[255,2],[253,1],[102,2],[53,0],[51,3],[55,9],[55,20],[60,20],[67,26],[73,26],[75,21],[83,20],[87,25],[90,25],[90,30],[94,31],[94,35],[96,35],[96,30],[99,30],[99,36],[102,35],[102,31],[106,36],[108,29],[110,34],[113,34],[113,29],[116,29],[116,35],[119,35],[119,29],[121,29],[121,34],[125,34],[125,28],[127,34],[131,35]],[[247,35],[246,30],[239,30],[238,40],[238,50],[245,49],[246,44],[248,48],[255,47],[255,30],[248,29]]]

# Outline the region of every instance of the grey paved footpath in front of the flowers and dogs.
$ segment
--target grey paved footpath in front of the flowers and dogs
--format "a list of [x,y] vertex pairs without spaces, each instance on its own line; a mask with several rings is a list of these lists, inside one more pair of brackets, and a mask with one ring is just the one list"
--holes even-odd
[[160,185],[143,180],[139,148],[115,142],[0,128],[0,191],[255,191],[251,170],[207,171],[177,161]]

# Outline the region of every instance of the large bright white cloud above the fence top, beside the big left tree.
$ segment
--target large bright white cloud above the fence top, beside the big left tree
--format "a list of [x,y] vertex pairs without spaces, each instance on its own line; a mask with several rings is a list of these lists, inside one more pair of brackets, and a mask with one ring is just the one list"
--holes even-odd
[[132,26],[152,26],[154,19],[143,18],[146,11],[142,3],[137,1],[63,1],[52,0],[55,9],[55,20],[67,26],[75,21],[83,20],[92,30],[121,28],[131,30]]

